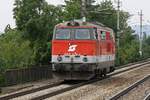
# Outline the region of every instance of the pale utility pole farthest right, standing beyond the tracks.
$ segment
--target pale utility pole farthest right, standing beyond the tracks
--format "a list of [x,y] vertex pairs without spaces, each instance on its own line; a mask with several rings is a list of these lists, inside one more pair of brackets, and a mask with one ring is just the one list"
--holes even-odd
[[139,53],[140,53],[140,56],[142,56],[142,40],[143,40],[142,39],[142,34],[143,34],[143,22],[142,22],[143,12],[142,12],[142,10],[140,11],[139,16],[140,16],[140,36],[139,36],[140,47],[139,47]]

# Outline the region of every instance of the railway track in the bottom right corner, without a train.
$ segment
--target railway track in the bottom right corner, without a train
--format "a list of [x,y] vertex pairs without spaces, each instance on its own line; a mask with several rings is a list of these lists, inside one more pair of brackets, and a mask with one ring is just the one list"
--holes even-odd
[[[133,89],[135,89],[136,87],[138,87],[139,85],[141,85],[142,83],[146,82],[148,79],[150,79],[150,75],[138,80],[137,82],[135,82],[134,84],[130,85],[129,87],[125,88],[124,90],[122,90],[121,92],[115,94],[114,96],[112,96],[109,100],[118,100],[119,98],[122,98],[124,95],[129,94],[130,91],[132,91]],[[145,98],[145,100],[150,100],[149,96],[147,96]]]

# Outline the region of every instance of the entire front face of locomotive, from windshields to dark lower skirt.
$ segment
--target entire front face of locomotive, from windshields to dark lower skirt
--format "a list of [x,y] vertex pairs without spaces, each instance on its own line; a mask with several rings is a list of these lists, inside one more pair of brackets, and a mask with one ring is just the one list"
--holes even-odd
[[52,40],[55,75],[63,79],[89,79],[96,66],[94,27],[57,26]]

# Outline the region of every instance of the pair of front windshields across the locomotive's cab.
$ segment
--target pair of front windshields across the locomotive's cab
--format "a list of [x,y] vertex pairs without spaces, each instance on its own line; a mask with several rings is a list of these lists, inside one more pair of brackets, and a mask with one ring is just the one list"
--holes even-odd
[[54,38],[56,40],[95,39],[95,30],[92,28],[60,28],[60,29],[56,29]]

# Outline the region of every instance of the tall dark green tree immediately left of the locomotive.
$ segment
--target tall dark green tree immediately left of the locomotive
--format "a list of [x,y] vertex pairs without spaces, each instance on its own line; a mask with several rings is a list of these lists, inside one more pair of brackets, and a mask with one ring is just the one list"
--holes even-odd
[[35,61],[48,63],[42,59],[49,52],[48,36],[52,36],[54,25],[62,21],[61,8],[48,5],[45,0],[15,0],[14,5],[17,29],[22,32],[24,39],[30,41]]

